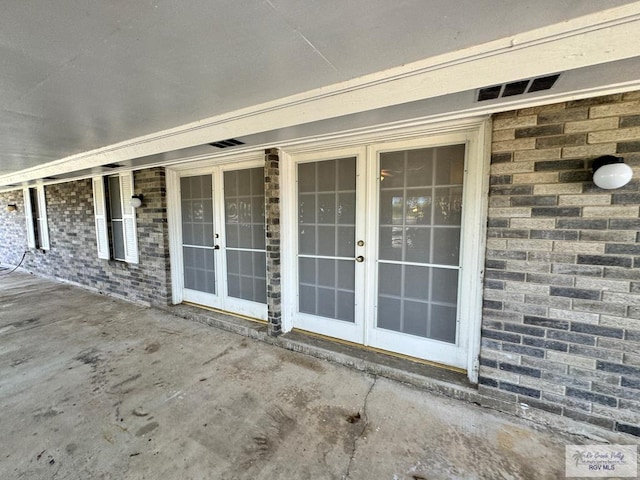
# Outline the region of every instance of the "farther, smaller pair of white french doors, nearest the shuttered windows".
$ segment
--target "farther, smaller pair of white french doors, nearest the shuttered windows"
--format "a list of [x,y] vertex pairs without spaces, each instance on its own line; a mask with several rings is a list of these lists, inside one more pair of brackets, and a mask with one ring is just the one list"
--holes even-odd
[[179,173],[183,300],[266,319],[264,167]]

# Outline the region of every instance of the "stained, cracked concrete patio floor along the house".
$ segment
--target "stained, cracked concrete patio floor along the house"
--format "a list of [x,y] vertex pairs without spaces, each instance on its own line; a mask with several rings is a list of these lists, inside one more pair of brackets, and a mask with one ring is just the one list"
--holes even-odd
[[0,409],[1,479],[559,479],[594,443],[18,272]]

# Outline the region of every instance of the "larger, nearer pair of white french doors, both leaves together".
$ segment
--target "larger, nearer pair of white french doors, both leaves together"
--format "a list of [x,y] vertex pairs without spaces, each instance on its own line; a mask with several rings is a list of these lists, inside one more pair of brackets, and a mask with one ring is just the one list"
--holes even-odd
[[468,367],[469,145],[460,133],[291,154],[294,327]]

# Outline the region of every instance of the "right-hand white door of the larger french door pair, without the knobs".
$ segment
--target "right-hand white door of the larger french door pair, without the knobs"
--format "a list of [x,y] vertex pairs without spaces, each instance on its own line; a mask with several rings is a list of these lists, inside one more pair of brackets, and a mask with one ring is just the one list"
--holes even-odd
[[459,283],[466,144],[377,145],[369,152],[376,171],[368,344],[465,367]]

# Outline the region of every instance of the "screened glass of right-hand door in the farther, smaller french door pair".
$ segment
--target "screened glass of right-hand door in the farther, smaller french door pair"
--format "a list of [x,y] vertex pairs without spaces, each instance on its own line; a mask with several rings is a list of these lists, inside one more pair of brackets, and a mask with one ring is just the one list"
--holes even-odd
[[224,172],[230,297],[267,302],[264,168]]

